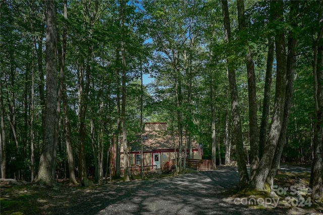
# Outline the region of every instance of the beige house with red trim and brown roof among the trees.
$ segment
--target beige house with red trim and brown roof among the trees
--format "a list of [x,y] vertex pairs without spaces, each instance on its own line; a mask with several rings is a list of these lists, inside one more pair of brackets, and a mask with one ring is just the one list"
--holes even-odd
[[[183,153],[186,144],[186,137],[183,135]],[[167,162],[178,157],[179,135],[171,135],[167,130],[167,123],[145,123],[142,134],[143,144],[143,166],[155,166],[161,169]],[[186,156],[189,149],[186,147]],[[137,140],[129,143],[129,166],[141,166],[141,141],[140,134]],[[192,158],[201,159],[202,151],[195,140],[192,140]],[[120,166],[124,167],[123,146],[121,145]]]

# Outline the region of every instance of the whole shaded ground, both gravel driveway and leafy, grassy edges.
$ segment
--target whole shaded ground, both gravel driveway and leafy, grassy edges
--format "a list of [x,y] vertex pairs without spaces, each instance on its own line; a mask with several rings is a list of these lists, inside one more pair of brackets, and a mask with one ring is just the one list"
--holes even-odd
[[[93,187],[1,182],[1,214],[322,214],[306,191],[309,169],[282,166],[270,192],[236,192],[236,167]],[[306,195],[307,194],[307,195]]]

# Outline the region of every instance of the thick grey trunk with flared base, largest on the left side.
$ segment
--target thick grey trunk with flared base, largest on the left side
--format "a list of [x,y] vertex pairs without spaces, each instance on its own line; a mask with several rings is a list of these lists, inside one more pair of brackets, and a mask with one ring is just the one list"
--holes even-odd
[[46,17],[46,106],[44,142],[40,155],[37,183],[53,185],[52,176],[55,126],[58,123],[57,108],[57,28],[55,1],[45,1]]

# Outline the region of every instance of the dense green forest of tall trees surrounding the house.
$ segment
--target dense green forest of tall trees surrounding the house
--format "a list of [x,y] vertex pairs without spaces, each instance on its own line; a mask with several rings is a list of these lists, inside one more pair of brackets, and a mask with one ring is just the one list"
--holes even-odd
[[204,159],[236,163],[240,188],[273,185],[281,162],[306,164],[323,198],[323,2],[0,7],[1,178],[101,184],[113,144],[167,122],[179,149],[194,138]]

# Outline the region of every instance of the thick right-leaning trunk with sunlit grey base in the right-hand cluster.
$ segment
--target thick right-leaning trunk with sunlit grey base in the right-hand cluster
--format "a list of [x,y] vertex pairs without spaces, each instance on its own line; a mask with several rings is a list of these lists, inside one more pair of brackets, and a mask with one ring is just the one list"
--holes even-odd
[[[282,1],[272,1],[271,11],[274,12],[274,19],[279,21],[279,25],[283,24],[284,8]],[[281,134],[284,121],[284,106],[286,95],[286,50],[285,50],[285,32],[282,28],[275,36],[276,56],[277,56],[277,72],[276,72],[276,94],[274,113],[270,132],[264,146],[264,153],[260,159],[258,169],[251,181],[251,187],[262,190],[268,173],[273,163],[275,150]]]

